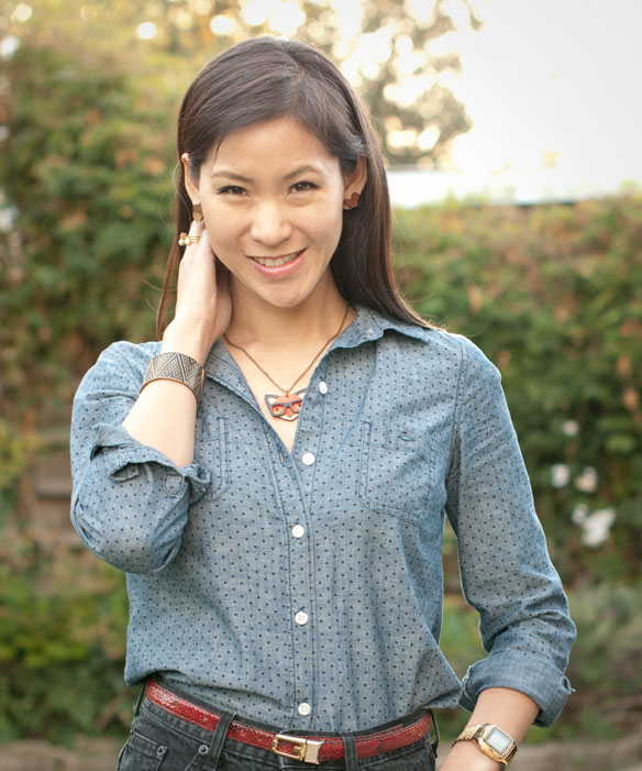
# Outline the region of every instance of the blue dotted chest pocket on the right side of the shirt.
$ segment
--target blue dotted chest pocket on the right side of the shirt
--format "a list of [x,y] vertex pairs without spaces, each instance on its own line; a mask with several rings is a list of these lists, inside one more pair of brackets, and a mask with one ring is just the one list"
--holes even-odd
[[398,423],[362,423],[361,502],[380,514],[417,524],[435,486],[433,443]]

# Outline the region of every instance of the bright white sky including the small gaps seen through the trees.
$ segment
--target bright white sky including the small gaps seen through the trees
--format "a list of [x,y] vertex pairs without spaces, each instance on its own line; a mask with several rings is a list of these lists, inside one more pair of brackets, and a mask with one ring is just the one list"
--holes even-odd
[[[418,21],[431,18],[433,1],[406,0]],[[435,40],[432,48],[460,55],[463,71],[443,74],[442,81],[473,121],[473,129],[454,142],[453,167],[487,178],[544,174],[564,189],[611,191],[630,180],[642,186],[642,0],[472,2],[482,30],[468,27],[463,0],[445,0],[458,30]],[[358,35],[367,0],[331,4],[342,33],[334,53],[358,88],[359,68],[376,76],[389,55],[390,31]],[[212,2],[190,0],[190,5],[204,12]],[[267,21],[278,34],[295,35],[306,23],[300,0],[242,0],[241,8],[246,22]],[[11,18],[26,23],[32,13],[20,2]],[[211,26],[214,33],[230,33],[236,21],[219,14]],[[137,30],[144,40],[156,32],[151,21]],[[15,38],[2,38],[0,57],[11,56],[15,45]],[[417,65],[410,48],[403,52],[398,44],[400,66],[409,73]],[[411,101],[430,77],[407,79],[397,96]],[[424,133],[430,146],[434,136]]]

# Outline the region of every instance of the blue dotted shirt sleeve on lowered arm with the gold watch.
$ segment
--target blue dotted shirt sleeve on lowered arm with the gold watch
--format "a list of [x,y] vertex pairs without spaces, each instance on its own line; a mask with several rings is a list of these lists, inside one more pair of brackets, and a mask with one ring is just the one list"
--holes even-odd
[[488,657],[464,678],[473,709],[488,687],[514,689],[551,725],[571,686],[564,676],[575,627],[549,558],[498,370],[462,340],[446,511],[457,537],[462,586],[480,616]]

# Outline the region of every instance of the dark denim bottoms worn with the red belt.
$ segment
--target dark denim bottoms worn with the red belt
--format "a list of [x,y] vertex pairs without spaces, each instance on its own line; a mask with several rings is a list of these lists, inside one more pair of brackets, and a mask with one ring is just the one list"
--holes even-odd
[[[314,768],[300,760],[284,758],[269,750],[226,739],[225,734],[234,716],[217,712],[221,719],[217,729],[211,731],[171,715],[144,698],[136,707],[132,729],[121,750],[117,771],[305,771]],[[421,714],[413,714],[405,723],[413,723],[420,716]],[[240,717],[236,719],[242,720]],[[250,720],[247,723],[274,733],[279,730],[274,726]],[[370,733],[379,729],[375,728]],[[355,736],[366,733],[358,731]],[[319,764],[321,771],[434,771],[435,768],[438,742],[431,741],[430,737],[407,747],[358,760],[351,735],[344,737],[344,744],[345,759],[324,761]]]

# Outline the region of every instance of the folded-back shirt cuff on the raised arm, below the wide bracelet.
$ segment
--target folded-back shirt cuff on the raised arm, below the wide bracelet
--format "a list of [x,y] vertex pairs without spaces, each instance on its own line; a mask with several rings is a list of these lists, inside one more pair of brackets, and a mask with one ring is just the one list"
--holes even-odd
[[211,474],[198,463],[188,463],[180,469],[167,455],[134,439],[122,426],[98,423],[95,429],[89,458],[99,451],[109,454],[109,476],[115,482],[125,482],[139,475],[139,464],[157,463],[165,467],[165,488],[167,493],[179,497],[184,485],[189,485],[189,500],[197,503],[203,496],[211,482]]

